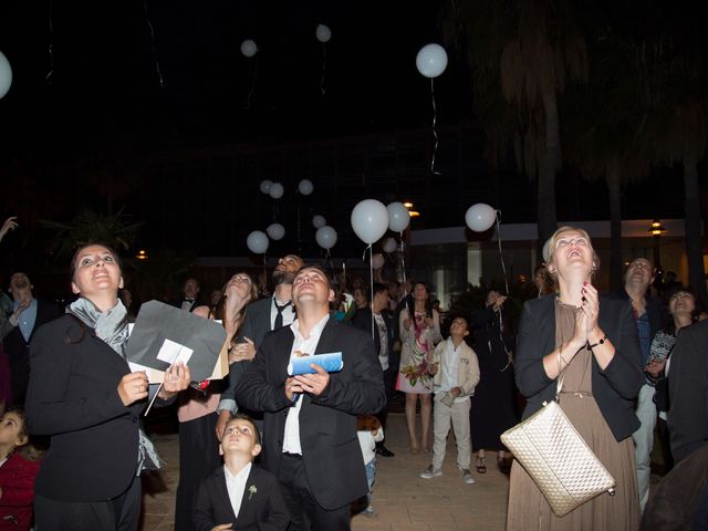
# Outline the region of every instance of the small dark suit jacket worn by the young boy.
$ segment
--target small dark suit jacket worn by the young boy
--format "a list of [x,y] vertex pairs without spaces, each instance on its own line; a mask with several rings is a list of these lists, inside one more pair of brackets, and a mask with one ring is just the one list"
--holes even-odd
[[[251,486],[254,487],[254,492],[249,492]],[[231,523],[233,529],[244,531],[284,531],[290,523],[290,512],[278,478],[257,465],[251,465],[237,519],[226,487],[223,467],[219,467],[201,480],[194,523],[197,531],[210,531],[220,523]]]

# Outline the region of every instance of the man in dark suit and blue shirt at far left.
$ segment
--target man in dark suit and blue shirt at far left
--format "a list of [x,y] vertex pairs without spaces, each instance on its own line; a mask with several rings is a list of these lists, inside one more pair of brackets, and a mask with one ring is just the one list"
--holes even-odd
[[12,404],[19,406],[24,404],[30,379],[30,341],[37,329],[59,316],[56,304],[34,299],[33,288],[25,273],[10,277],[13,312],[0,323],[0,337],[10,363]]

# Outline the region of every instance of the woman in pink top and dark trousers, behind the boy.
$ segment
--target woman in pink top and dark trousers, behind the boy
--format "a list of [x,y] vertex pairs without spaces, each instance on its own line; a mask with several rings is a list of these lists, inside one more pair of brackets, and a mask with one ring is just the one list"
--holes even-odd
[[[251,277],[246,272],[238,272],[223,287],[215,312],[206,305],[194,311],[200,317],[221,321],[229,345],[229,375],[232,362],[242,360],[235,347],[246,306],[256,296]],[[195,529],[194,512],[199,482],[219,465],[218,445],[230,413],[218,413],[217,408],[220,392],[227,385],[225,381],[210,382],[206,389],[192,387],[179,397],[179,485],[175,496],[175,529],[178,531]],[[232,397],[232,389],[229,396]]]

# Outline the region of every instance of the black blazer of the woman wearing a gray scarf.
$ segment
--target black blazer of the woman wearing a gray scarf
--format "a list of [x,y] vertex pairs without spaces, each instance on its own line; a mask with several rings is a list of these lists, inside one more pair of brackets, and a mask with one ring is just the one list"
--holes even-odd
[[28,427],[52,436],[35,491],[59,501],[105,501],[124,492],[137,471],[145,406],[126,407],[118,396],[127,362],[64,315],[38,330],[30,367]]

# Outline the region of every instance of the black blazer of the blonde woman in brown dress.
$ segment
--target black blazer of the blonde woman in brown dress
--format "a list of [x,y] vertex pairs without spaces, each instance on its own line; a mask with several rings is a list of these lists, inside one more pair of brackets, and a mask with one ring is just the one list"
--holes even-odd
[[[523,306],[514,356],[517,386],[528,399],[523,418],[539,410],[555,395],[556,382],[549,378],[543,368],[543,356],[555,350],[555,296],[532,299]],[[601,296],[597,322],[616,352],[604,371],[593,356],[593,395],[615,439],[622,440],[639,427],[634,400],[644,383],[632,304]]]

